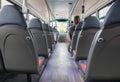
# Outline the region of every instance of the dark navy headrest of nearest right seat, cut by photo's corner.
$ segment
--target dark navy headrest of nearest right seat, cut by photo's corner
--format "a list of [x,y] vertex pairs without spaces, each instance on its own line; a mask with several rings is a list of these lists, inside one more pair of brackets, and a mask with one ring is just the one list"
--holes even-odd
[[120,0],[116,0],[106,14],[104,26],[120,23]]

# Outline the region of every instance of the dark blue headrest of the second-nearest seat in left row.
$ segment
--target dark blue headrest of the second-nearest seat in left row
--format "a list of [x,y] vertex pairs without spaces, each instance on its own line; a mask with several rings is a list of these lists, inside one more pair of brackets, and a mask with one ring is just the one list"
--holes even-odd
[[31,19],[28,28],[29,29],[40,29],[40,30],[42,30],[42,23],[39,19],[36,19],[36,18]]

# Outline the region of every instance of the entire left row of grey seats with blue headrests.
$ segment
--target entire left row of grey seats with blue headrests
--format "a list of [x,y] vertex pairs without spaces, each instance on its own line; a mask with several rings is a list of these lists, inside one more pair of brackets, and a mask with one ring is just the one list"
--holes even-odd
[[2,8],[0,72],[39,74],[53,45],[52,27],[42,24],[39,19],[32,19],[27,28],[19,7],[7,5]]

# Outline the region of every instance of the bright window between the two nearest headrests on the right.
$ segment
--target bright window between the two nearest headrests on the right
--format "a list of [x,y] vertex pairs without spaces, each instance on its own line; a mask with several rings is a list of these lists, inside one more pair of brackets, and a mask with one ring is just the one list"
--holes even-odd
[[112,4],[102,8],[101,10],[99,10],[99,19],[100,19],[101,22],[104,21],[104,18],[105,18],[106,14],[107,14],[107,12],[108,12],[108,10],[110,9],[111,6],[112,6]]

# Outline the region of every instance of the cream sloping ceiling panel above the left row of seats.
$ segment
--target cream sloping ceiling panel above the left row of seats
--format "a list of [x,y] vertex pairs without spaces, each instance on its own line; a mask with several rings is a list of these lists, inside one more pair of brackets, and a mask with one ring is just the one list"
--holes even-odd
[[[11,0],[14,3],[19,4],[22,6],[23,0]],[[33,11],[32,13],[34,15],[37,15],[37,17],[42,18],[46,22],[49,21],[48,16],[48,9],[45,0],[26,0],[27,1],[27,7]]]

